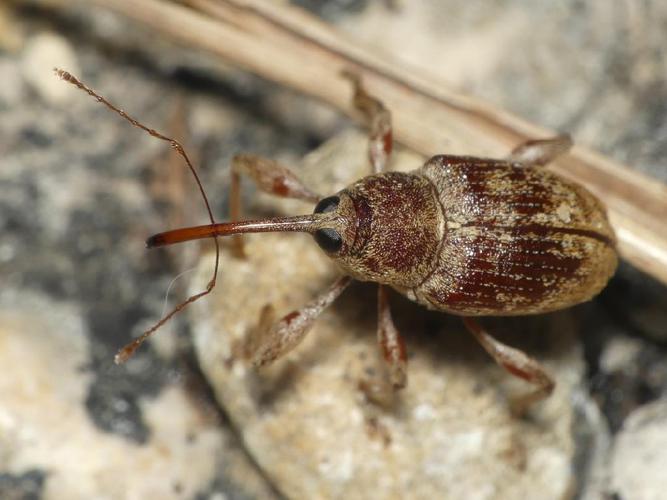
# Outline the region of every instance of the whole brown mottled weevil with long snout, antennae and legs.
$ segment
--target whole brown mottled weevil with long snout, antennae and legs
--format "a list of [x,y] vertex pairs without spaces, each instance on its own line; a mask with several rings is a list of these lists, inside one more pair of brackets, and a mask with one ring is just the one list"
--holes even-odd
[[[377,336],[395,389],[407,383],[407,355],[386,287],[429,309],[461,316],[500,366],[535,386],[515,401],[522,411],[548,396],[554,381],[535,359],[493,338],[475,317],[541,314],[585,302],[604,288],[616,269],[615,236],[603,204],[584,187],[544,168],[567,153],[572,145],[568,136],[527,141],[504,159],[437,155],[412,172],[387,172],[391,114],[356,73],[345,72],[353,104],[370,125],[373,173],[332,196],[321,196],[275,161],[238,155],[231,168],[232,220],[216,223],[197,173],[177,141],[129,117],[71,74],[56,72],[134,126],[169,142],[195,176],[211,223],[151,236],[149,248],[213,238],[219,256],[217,237],[232,235],[235,251],[243,257],[243,233],[307,232],[337,264],[342,274],[333,284],[263,335],[252,356],[257,366],[294,349],[352,280],[376,282]],[[240,221],[241,175],[267,193],[315,203],[313,213]],[[121,349],[116,361],[128,359],[174,314],[210,293],[217,270],[218,259],[206,289]]]

